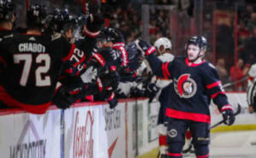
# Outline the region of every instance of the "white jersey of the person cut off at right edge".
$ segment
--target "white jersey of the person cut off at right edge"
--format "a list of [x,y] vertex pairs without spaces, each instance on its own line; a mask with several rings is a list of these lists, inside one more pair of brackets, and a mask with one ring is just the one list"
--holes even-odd
[[256,94],[256,64],[253,64],[249,70],[249,79],[247,87],[247,103],[252,105],[254,96]]

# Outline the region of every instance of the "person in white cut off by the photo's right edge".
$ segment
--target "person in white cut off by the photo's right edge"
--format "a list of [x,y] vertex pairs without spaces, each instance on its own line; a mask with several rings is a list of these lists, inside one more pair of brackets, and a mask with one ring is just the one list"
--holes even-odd
[[256,110],[256,64],[253,64],[249,70],[249,79],[247,87],[247,103],[249,106],[249,112],[253,113]]

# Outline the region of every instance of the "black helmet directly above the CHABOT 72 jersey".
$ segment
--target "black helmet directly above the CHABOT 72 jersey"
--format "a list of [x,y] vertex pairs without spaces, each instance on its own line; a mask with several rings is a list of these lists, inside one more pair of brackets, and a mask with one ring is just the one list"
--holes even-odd
[[46,22],[46,8],[42,5],[30,5],[27,11],[28,27],[43,27]]

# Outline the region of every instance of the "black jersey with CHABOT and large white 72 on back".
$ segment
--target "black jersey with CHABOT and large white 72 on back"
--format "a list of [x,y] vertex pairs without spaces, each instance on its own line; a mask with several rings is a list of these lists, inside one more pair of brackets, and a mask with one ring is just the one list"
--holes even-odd
[[[50,105],[62,63],[73,55],[75,45],[61,36],[13,33],[0,42],[4,60],[0,100],[7,106],[27,107],[44,113]],[[42,107],[42,111],[29,106]]]

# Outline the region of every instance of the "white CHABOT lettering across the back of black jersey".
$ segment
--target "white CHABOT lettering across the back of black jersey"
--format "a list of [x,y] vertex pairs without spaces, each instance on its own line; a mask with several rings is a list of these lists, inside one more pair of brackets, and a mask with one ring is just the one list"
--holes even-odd
[[19,52],[45,52],[45,46],[39,43],[20,43]]

